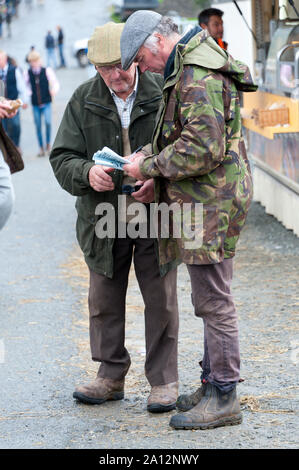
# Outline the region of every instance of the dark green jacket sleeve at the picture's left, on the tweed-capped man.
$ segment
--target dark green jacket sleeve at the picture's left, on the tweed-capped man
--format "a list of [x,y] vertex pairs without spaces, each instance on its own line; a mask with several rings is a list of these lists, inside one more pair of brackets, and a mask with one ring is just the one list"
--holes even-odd
[[94,162],[87,156],[81,115],[80,103],[73,97],[64,112],[50,155],[50,163],[59,184],[74,196],[84,196],[93,191],[88,173]]

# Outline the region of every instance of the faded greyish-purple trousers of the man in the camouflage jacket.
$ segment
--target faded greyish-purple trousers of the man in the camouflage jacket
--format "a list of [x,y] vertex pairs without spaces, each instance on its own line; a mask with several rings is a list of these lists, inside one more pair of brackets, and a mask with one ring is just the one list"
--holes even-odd
[[195,315],[204,324],[202,380],[228,392],[240,378],[238,318],[230,293],[233,260],[187,267]]

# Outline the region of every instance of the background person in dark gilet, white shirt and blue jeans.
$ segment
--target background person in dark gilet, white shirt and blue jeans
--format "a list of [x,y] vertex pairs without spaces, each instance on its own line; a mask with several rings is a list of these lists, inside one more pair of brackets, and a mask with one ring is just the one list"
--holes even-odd
[[[52,121],[52,98],[59,90],[59,82],[55,72],[50,67],[43,67],[41,56],[37,51],[32,51],[28,55],[30,68],[25,73],[25,80],[28,91],[31,94],[34,123],[39,143],[38,156],[45,155],[51,150],[51,121]],[[46,145],[42,135],[42,117],[46,127]]]

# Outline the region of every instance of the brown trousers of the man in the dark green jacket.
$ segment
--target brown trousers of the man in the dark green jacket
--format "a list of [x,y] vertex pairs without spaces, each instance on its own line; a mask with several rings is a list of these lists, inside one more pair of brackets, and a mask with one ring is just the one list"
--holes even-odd
[[164,277],[150,238],[119,238],[114,243],[114,277],[90,271],[89,312],[92,359],[98,375],[123,379],[130,367],[125,348],[125,304],[132,259],[145,310],[145,375],[151,386],[178,380],[176,270]]

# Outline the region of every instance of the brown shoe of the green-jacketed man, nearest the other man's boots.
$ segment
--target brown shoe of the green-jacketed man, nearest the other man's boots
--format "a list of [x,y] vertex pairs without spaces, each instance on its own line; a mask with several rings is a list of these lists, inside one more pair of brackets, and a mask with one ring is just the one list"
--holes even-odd
[[178,397],[178,382],[152,387],[147,399],[147,410],[151,413],[164,413],[175,409]]

